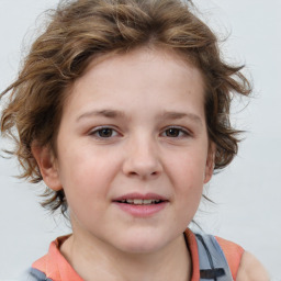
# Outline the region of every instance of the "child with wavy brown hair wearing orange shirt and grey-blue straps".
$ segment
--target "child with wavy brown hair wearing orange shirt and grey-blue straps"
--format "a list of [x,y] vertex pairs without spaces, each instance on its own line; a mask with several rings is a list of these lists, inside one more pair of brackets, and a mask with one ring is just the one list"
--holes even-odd
[[238,245],[187,228],[237,153],[232,95],[250,92],[190,4],[61,2],[2,93],[22,177],[72,226],[22,280],[269,280]]

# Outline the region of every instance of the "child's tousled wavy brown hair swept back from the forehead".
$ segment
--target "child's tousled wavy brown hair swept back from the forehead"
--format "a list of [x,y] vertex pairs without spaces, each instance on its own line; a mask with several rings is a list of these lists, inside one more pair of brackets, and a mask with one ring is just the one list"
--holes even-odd
[[[1,114],[1,132],[14,140],[22,166],[20,177],[42,181],[32,155],[34,142],[56,153],[56,136],[64,101],[72,82],[97,56],[125,53],[140,46],[165,47],[198,67],[205,81],[205,116],[215,144],[215,169],[226,167],[237,154],[237,133],[229,122],[235,93],[247,95],[250,85],[222,59],[217,37],[191,12],[183,0],[61,1],[52,12],[43,34],[33,43]],[[64,191],[46,189],[43,205],[67,209]]]

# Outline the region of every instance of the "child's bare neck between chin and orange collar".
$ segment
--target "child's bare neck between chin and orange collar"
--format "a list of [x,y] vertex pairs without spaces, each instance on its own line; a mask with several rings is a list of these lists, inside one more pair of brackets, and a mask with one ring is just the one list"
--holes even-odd
[[156,252],[131,254],[74,234],[60,251],[86,281],[92,277],[106,281],[191,280],[191,258],[183,235]]

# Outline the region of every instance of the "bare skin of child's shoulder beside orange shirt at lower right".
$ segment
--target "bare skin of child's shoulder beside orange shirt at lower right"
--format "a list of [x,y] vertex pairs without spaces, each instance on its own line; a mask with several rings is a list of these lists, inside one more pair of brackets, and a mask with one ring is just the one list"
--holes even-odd
[[269,274],[260,261],[245,251],[237,272],[237,281],[269,281]]

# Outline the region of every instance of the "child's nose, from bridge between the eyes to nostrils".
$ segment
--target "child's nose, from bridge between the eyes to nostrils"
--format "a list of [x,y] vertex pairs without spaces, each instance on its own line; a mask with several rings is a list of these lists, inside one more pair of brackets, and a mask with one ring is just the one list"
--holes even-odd
[[156,179],[162,172],[159,149],[151,137],[131,139],[126,148],[123,172],[127,177]]

